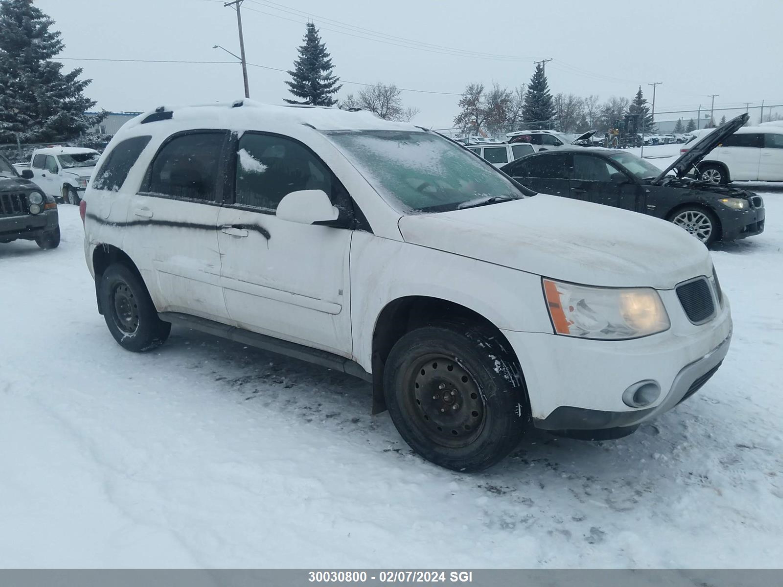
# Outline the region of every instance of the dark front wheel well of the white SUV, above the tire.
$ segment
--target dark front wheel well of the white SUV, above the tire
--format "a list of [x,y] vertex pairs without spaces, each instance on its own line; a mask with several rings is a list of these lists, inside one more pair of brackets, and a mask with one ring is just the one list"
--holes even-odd
[[384,401],[384,366],[391,348],[406,333],[444,319],[481,324],[496,333],[500,343],[514,355],[507,338],[493,322],[470,308],[437,297],[408,296],[391,301],[381,310],[373,330],[373,414],[386,409]]

